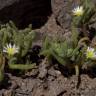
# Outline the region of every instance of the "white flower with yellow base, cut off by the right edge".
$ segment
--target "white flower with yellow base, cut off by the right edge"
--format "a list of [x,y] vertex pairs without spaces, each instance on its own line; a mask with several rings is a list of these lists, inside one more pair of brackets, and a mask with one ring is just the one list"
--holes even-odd
[[87,59],[95,59],[96,58],[96,52],[94,48],[88,47],[86,51],[86,57]]

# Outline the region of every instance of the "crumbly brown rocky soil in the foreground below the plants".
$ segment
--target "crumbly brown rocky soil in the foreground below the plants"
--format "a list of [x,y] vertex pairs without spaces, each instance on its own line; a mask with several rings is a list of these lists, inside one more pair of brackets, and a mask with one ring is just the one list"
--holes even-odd
[[[67,73],[67,71],[64,71]],[[9,78],[2,86],[0,96],[95,96],[96,78],[81,74],[66,77],[57,64],[49,65],[44,59],[37,69]]]

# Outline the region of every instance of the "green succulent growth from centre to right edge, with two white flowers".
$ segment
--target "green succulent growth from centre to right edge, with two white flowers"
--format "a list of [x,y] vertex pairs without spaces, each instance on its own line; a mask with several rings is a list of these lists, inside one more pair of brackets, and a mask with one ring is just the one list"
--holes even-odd
[[[96,6],[92,0],[81,0],[81,4],[72,10],[71,38],[58,40],[46,38],[41,54],[49,60],[55,58],[59,64],[74,68],[76,75],[83,66],[92,67],[96,64],[96,47],[92,44],[95,35],[90,25],[96,21]],[[95,32],[96,33],[96,32]]]

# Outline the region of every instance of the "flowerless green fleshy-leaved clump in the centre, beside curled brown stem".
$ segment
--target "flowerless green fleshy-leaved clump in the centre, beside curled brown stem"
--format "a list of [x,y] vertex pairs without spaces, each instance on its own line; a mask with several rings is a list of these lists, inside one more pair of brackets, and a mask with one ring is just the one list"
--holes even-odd
[[[76,37],[73,37],[76,39]],[[72,38],[71,38],[72,39]],[[54,57],[59,64],[62,64],[69,69],[75,68],[76,75],[79,76],[79,68],[84,63],[84,52],[88,38],[82,38],[78,41],[73,39],[68,42],[67,40],[58,41],[45,39],[41,54],[52,59]],[[74,45],[76,44],[76,45]],[[50,58],[51,57],[51,58]]]

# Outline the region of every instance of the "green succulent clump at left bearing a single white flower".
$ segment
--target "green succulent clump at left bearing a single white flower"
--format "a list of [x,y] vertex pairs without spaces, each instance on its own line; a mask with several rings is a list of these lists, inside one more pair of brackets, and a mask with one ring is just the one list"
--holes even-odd
[[31,25],[23,30],[19,30],[12,21],[0,26],[0,81],[3,80],[6,64],[10,69],[19,70],[36,66],[27,55],[34,38]]

